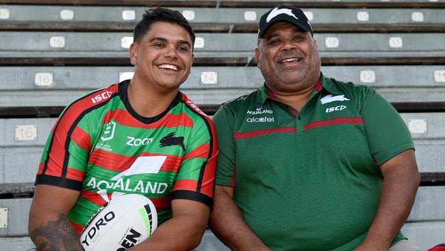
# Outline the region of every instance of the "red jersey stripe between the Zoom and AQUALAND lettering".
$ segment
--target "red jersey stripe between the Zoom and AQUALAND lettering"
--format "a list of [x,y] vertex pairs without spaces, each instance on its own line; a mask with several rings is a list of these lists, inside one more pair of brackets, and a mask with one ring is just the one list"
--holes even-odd
[[[140,154],[140,157],[143,156],[166,156],[167,158],[166,160],[164,160],[160,171],[177,171],[182,162],[182,158],[180,156],[142,152]],[[126,169],[129,169],[129,167],[131,167],[131,165],[134,163],[134,161],[136,161],[137,158],[138,156],[125,156],[95,149],[90,154],[88,164],[94,164],[98,167],[102,167],[112,171],[125,171]]]

